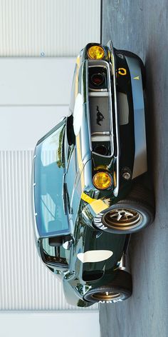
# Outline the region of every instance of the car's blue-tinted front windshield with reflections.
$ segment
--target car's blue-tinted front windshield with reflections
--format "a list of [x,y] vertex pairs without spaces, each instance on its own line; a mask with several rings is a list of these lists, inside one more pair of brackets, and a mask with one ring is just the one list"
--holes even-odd
[[34,206],[41,237],[69,233],[63,211],[63,136],[65,121],[36,146],[34,159]]

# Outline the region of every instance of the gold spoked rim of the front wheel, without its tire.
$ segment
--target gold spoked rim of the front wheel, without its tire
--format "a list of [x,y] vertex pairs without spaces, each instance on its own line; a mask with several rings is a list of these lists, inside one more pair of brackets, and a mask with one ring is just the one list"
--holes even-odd
[[142,214],[131,208],[115,208],[105,213],[103,223],[112,228],[135,228],[142,222]]

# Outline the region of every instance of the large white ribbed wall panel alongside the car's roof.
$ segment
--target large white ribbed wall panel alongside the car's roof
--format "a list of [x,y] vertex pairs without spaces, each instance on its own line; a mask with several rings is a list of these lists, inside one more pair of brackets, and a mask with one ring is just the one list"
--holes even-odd
[[36,251],[32,157],[33,151],[0,151],[0,310],[78,310],[65,302],[61,282]]

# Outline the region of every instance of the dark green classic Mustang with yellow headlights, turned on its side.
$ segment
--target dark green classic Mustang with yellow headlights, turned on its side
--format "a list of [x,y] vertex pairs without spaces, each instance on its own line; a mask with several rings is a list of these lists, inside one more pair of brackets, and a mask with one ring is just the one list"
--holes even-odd
[[130,235],[152,223],[145,69],[130,51],[88,44],[76,60],[70,112],[38,141],[33,218],[38,251],[74,306],[132,293]]

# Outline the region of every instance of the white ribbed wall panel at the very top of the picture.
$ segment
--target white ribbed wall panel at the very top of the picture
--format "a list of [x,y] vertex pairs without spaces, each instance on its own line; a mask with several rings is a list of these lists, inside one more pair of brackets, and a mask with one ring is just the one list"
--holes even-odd
[[75,56],[100,42],[100,0],[1,0],[0,56]]

